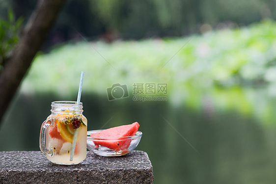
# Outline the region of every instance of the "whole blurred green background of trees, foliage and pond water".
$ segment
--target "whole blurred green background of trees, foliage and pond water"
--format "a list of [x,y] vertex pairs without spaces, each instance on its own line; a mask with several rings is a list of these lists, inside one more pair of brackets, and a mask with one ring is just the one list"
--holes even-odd
[[[28,20],[35,3],[0,0],[0,15],[12,7]],[[104,128],[138,121],[137,150],[148,153],[156,184],[275,183],[275,8],[276,0],[67,1],[4,117],[0,151],[39,150],[51,102],[75,101],[84,71],[88,130],[111,117]],[[129,97],[109,101],[115,83]],[[134,101],[135,83],[167,83],[167,100]]]

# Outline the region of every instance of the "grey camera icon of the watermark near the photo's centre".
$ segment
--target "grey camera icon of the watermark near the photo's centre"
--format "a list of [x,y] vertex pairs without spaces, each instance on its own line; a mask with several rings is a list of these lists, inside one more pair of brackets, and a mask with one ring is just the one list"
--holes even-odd
[[129,97],[127,84],[113,84],[111,87],[107,88],[107,94],[109,101]]

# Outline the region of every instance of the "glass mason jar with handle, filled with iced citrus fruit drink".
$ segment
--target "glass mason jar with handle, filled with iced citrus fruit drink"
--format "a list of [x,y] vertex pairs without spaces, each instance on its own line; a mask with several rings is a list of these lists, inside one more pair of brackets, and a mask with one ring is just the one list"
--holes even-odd
[[87,119],[83,103],[52,102],[52,114],[42,123],[40,150],[56,164],[78,164],[86,158]]

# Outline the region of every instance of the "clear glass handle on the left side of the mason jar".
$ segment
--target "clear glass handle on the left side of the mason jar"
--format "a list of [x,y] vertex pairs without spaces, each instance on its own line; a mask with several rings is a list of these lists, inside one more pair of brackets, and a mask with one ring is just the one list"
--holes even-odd
[[52,150],[49,150],[47,147],[46,147],[46,137],[47,137],[47,128],[49,126],[52,126],[53,125],[53,120],[54,119],[48,119],[48,120],[45,120],[42,125],[41,125],[41,129],[40,129],[40,136],[39,136],[39,147],[40,147],[40,150],[49,155],[49,156],[53,156],[53,151]]

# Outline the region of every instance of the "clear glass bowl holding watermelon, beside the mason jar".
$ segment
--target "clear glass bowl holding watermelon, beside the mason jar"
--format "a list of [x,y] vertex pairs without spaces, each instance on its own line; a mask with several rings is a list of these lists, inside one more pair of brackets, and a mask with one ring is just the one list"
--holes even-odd
[[87,131],[87,149],[99,156],[112,157],[126,155],[139,144],[142,132],[127,137],[91,137],[90,134],[103,130]]

